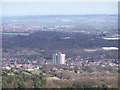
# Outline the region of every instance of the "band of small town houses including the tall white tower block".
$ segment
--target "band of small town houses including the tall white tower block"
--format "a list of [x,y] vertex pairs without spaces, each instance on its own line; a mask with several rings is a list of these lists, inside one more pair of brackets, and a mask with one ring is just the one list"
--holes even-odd
[[[100,66],[100,67],[118,67],[119,66],[119,61],[116,59],[105,59],[105,60],[99,60],[99,61],[89,61],[88,60],[83,60],[79,57],[77,57],[74,61],[70,60],[70,58],[66,59],[65,54],[62,54],[60,52],[53,54],[52,62],[49,62],[45,59],[40,59],[40,60],[34,60],[30,61],[29,59],[17,59],[17,58],[10,58],[9,60],[6,58],[2,59],[2,68],[3,69],[23,69],[23,70],[28,70],[32,71],[34,69],[39,69],[40,65],[65,65],[68,67],[84,67],[84,66]],[[55,66],[53,68],[55,68]]]

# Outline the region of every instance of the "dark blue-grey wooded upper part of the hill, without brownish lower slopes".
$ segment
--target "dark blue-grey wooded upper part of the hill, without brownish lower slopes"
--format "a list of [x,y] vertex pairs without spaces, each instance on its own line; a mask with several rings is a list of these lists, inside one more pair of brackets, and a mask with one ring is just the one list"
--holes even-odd
[[67,33],[39,31],[29,36],[18,35],[3,37],[3,48],[27,47],[53,49],[94,48],[102,46],[117,46],[117,41],[103,40],[96,35],[83,33]]

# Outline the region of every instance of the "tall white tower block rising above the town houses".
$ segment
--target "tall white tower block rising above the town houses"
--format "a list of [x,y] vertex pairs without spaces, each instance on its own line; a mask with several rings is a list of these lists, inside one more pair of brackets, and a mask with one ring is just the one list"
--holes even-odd
[[65,54],[62,53],[55,53],[53,54],[53,63],[54,64],[65,64]]

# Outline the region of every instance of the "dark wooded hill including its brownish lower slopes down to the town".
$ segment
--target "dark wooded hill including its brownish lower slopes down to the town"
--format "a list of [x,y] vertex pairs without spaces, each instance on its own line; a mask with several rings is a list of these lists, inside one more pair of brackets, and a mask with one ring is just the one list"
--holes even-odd
[[[3,54],[5,57],[20,57],[20,58],[39,58],[45,57],[52,59],[52,54],[62,52],[67,54],[67,57],[96,57],[106,54],[107,57],[113,58],[117,54],[111,56],[107,51],[86,52],[86,48],[101,48],[103,46],[117,46],[117,41],[107,41],[100,36],[72,33],[72,32],[54,32],[54,31],[39,31],[28,36],[17,35],[14,37],[3,36]],[[24,52],[24,55],[22,52]]]

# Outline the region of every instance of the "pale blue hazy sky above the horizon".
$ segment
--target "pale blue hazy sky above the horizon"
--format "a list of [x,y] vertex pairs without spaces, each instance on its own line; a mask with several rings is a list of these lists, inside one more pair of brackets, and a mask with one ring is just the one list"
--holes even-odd
[[2,4],[3,16],[117,14],[117,2],[8,2]]

